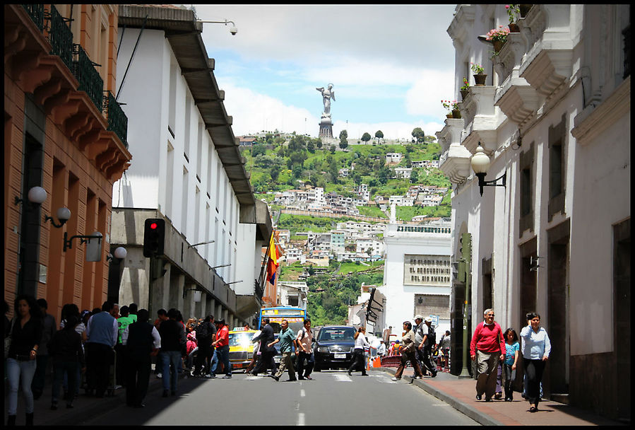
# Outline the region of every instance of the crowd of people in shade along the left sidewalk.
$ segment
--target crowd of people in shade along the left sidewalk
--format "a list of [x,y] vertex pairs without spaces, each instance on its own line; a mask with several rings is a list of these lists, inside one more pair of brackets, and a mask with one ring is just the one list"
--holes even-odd
[[47,313],[47,301],[26,294],[16,297],[13,310],[9,320],[4,301],[8,426],[16,425],[18,388],[25,402],[25,424],[34,424],[35,401],[44,393],[47,369],[52,371],[52,410],[60,400],[73,408],[81,387],[96,398],[125,388],[126,405],[145,407],[153,361],[163,397],[177,395],[179,374],[186,369],[189,376],[215,378],[222,367],[225,378],[232,377],[229,327],[213,315],[185,324],[179,310],[160,309],[152,324],[148,310],[136,303],[119,308],[105,301],[101,308],[81,312],[68,303],[58,327]]

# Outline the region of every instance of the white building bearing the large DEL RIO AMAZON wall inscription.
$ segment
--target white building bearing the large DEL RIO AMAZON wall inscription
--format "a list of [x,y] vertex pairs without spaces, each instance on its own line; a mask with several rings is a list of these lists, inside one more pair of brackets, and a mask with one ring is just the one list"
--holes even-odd
[[384,328],[391,325],[400,332],[403,321],[420,313],[438,315],[437,332],[450,330],[451,226],[451,221],[388,224],[384,284],[379,288],[386,296]]

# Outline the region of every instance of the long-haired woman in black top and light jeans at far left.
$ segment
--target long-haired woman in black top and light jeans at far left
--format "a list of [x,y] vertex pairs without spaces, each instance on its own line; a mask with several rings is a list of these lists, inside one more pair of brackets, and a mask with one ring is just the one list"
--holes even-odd
[[18,386],[22,385],[25,400],[26,425],[33,425],[33,393],[31,382],[35,374],[35,357],[42,339],[42,315],[35,297],[20,294],[13,306],[15,317],[11,330],[11,347],[6,359],[8,379],[8,426],[16,425]]

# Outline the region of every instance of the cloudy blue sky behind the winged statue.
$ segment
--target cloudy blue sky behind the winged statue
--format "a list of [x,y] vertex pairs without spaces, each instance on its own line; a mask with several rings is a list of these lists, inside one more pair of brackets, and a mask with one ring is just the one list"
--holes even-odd
[[455,5],[185,5],[203,23],[236,136],[262,130],[317,137],[333,83],[333,136],[377,130],[411,139],[444,127],[441,100],[454,93],[447,33]]

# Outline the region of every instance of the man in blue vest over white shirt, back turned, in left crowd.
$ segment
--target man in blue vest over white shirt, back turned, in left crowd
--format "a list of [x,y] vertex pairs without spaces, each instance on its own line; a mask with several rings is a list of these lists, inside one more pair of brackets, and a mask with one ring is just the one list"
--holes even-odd
[[93,391],[97,397],[104,397],[108,385],[109,367],[113,363],[113,347],[117,343],[119,326],[110,315],[112,302],[105,301],[102,311],[88,320],[86,328],[86,382],[88,395]]

